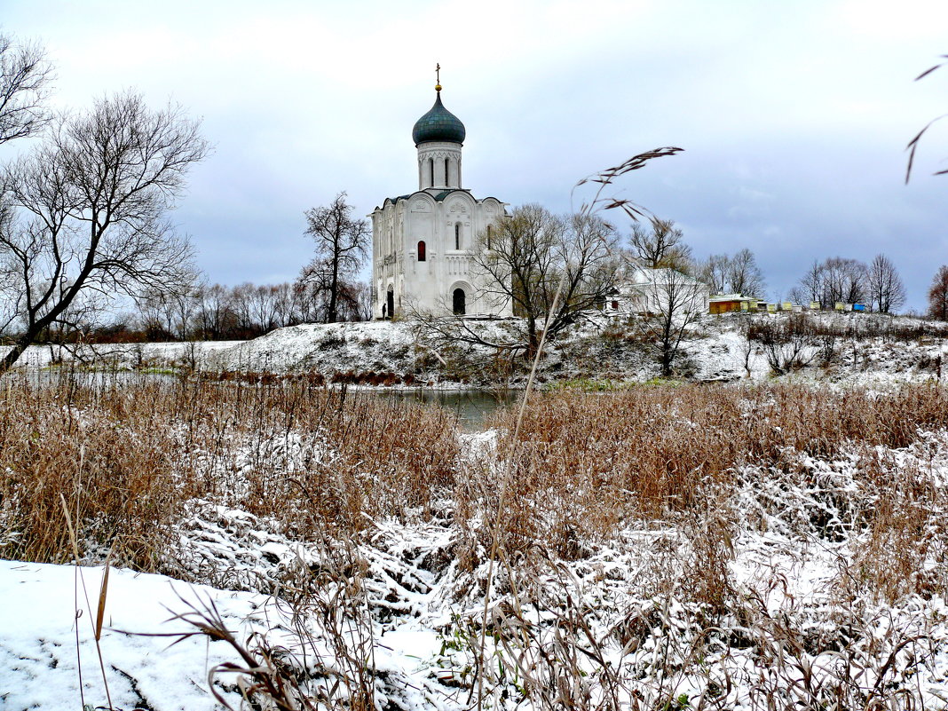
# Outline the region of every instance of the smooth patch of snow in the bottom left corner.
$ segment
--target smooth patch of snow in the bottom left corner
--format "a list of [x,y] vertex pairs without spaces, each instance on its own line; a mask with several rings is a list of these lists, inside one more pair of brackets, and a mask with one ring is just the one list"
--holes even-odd
[[[113,569],[97,647],[103,570],[0,560],[0,707],[107,708],[108,693],[124,709],[214,708],[208,672],[238,661],[233,649],[203,635],[179,644],[173,636],[151,635],[190,634],[193,626],[170,618],[189,605],[212,604],[245,636],[272,613],[264,596]],[[218,691],[240,702],[232,691]]]

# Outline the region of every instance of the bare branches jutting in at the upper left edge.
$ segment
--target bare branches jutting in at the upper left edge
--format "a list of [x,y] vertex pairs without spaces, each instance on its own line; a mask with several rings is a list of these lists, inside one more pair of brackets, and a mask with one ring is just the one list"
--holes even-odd
[[0,34],[0,144],[43,129],[52,79],[42,46]]

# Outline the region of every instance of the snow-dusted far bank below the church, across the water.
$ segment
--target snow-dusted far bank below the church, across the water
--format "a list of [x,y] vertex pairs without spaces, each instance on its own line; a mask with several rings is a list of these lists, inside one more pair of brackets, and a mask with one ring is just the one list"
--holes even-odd
[[[809,315],[814,323],[841,335],[803,349],[809,364],[791,377],[841,385],[919,382],[940,379],[941,363],[948,368],[948,337],[915,337],[914,330],[944,331],[944,324],[876,314],[823,313]],[[772,370],[759,343],[748,344],[743,328],[749,319],[779,322],[786,315],[741,314],[706,317],[691,329],[676,360],[676,378],[731,381],[763,380]],[[487,340],[503,340],[505,320],[472,322]],[[908,336],[866,336],[866,331],[902,331]],[[940,331],[939,331],[940,330]],[[831,343],[830,343],[831,341]],[[829,344],[829,345],[828,345]],[[827,350],[829,349],[829,350]],[[0,356],[6,348],[0,347]],[[830,355],[828,356],[827,353]],[[362,375],[396,376],[415,386],[457,387],[522,384],[527,367],[498,369],[490,348],[432,345],[408,321],[303,324],[278,329],[250,341],[145,343],[82,346],[76,356],[48,346],[33,346],[21,358],[28,368],[47,367],[57,358],[77,357],[96,367],[129,369],[190,368],[210,373],[319,373],[327,380],[355,374],[356,384],[378,384]],[[502,359],[501,359],[502,360]],[[547,348],[539,371],[541,380],[611,379],[646,381],[660,374],[653,346],[634,324],[592,317]],[[410,377],[407,377],[410,376]],[[390,378],[390,384],[391,384]]]

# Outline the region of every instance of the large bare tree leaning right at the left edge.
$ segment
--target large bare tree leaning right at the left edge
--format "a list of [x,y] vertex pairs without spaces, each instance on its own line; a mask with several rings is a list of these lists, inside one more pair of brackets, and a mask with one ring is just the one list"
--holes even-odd
[[208,154],[179,107],[133,93],[63,118],[3,174],[0,283],[22,331],[8,370],[46,329],[92,296],[115,300],[191,283],[191,245],[166,218],[191,164]]

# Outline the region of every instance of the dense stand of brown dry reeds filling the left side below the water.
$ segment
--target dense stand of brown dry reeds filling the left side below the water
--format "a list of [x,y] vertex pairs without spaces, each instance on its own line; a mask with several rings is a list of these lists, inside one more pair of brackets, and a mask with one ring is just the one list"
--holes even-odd
[[60,497],[83,556],[162,567],[187,501],[283,522],[301,539],[425,516],[449,495],[456,420],[439,408],[329,391],[62,373],[0,390],[2,555],[64,562]]

